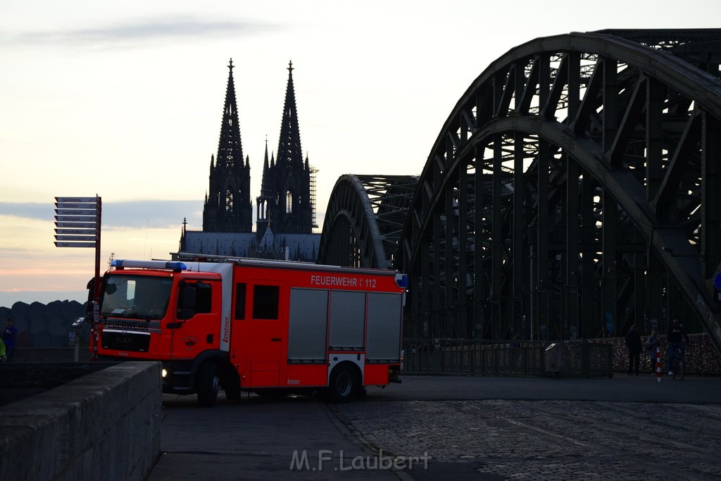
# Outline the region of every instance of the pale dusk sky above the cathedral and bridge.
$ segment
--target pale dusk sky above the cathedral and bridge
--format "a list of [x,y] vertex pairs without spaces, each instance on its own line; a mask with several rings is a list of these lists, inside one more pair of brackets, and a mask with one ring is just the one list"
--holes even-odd
[[457,100],[516,45],[712,28],[720,13],[717,0],[3,0],[0,306],[84,301],[95,252],[54,246],[55,197],[102,198],[101,270],[111,255],[169,258],[183,219],[202,228],[230,58],[254,201],[293,61],[322,223],[340,175],[419,175]]

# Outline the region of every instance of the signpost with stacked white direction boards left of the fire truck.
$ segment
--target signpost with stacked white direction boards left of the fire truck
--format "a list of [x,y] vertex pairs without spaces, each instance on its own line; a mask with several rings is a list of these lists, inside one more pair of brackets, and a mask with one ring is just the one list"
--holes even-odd
[[[95,278],[92,335],[97,335],[100,301],[100,219],[102,199],[95,197],[55,198],[56,247],[95,247]],[[97,350],[94,339],[93,350]],[[92,352],[93,359],[97,353]]]

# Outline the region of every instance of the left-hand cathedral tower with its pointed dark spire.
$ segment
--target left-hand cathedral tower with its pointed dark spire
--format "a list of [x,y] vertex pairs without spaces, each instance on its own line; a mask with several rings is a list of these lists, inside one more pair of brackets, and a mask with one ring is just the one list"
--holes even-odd
[[215,159],[211,156],[210,189],[203,206],[203,231],[250,232],[250,161],[243,159],[232,58],[228,69],[218,154]]

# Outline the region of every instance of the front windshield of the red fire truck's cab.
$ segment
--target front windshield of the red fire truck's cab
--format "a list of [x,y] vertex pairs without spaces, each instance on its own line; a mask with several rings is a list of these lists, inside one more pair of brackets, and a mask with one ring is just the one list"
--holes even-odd
[[131,319],[162,319],[168,309],[172,279],[146,275],[108,275],[100,314]]

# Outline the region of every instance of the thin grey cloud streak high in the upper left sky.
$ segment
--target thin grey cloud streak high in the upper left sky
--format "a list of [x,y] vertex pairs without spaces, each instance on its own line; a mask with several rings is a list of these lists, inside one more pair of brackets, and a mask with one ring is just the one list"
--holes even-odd
[[227,38],[229,36],[254,35],[277,30],[280,25],[267,22],[240,20],[204,20],[195,17],[176,16],[140,19],[116,25],[75,30],[40,30],[4,35],[4,45],[65,45],[85,47],[146,48],[152,43],[178,40]]

